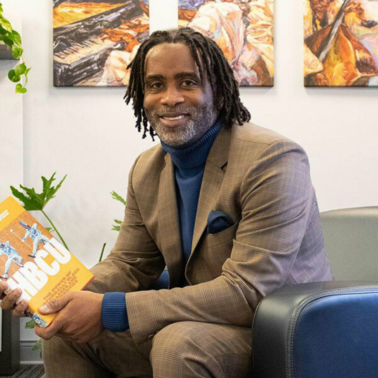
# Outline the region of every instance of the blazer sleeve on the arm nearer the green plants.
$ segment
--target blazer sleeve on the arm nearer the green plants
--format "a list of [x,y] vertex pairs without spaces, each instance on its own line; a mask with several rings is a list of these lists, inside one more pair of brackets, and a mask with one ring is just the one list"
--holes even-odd
[[91,268],[95,279],[86,290],[97,293],[146,290],[164,270],[164,258],[144,225],[132,186],[140,155],[129,174],[125,216],[110,254]]

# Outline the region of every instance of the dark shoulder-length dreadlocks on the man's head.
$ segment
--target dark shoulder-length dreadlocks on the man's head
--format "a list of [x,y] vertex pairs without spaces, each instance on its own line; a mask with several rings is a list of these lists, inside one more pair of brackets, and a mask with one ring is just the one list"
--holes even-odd
[[237,121],[239,125],[242,125],[243,122],[248,122],[251,119],[250,113],[240,101],[239,84],[234,78],[232,68],[220,47],[212,39],[191,28],[155,31],[141,43],[135,58],[127,66],[127,69],[131,67],[131,72],[129,86],[124,99],[126,104],[129,104],[130,100],[133,99],[133,109],[136,117],[135,127],[140,132],[141,124],[143,123],[144,132],[142,138],[146,138],[147,132],[149,132],[152,140],[156,135],[153,128],[147,124],[147,116],[143,108],[144,62],[148,51],[153,46],[161,43],[183,43],[191,48],[200,71],[201,80],[203,80],[203,72],[206,70],[215,106],[220,110],[226,125],[231,125],[233,121]]

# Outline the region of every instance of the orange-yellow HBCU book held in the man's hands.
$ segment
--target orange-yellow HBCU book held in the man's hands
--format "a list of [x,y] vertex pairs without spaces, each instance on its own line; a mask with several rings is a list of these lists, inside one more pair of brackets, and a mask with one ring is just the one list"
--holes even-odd
[[0,277],[8,291],[19,287],[26,311],[40,327],[54,318],[38,309],[69,291],[83,290],[93,274],[14,198],[0,203]]

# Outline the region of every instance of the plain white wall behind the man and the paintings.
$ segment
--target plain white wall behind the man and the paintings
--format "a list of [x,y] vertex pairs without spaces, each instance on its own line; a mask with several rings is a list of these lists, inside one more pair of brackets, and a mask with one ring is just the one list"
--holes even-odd
[[[125,88],[53,87],[51,0],[2,2],[6,12],[11,4],[22,5],[25,59],[33,67],[22,104],[24,184],[40,189],[41,175],[55,170],[58,177],[68,174],[46,212],[73,253],[91,266],[98,260],[102,243],[108,243],[107,252],[114,243],[112,220],[123,214],[122,205],[109,192],[115,189],[125,195],[134,158],[153,142],[142,140],[134,129],[132,109],[122,100]],[[175,2],[165,0],[164,6],[169,3]],[[159,20],[152,23],[162,25],[172,12],[162,6],[156,9]],[[165,22],[172,25],[172,20]],[[253,121],[307,150],[321,211],[377,205],[378,88],[305,89],[302,2],[276,0],[275,25],[274,88],[241,88]],[[0,65],[1,94],[9,86],[2,70]],[[11,91],[7,93],[12,104],[20,101]],[[5,117],[15,122],[13,116]],[[4,152],[0,158],[5,159]],[[9,166],[5,171],[6,177],[12,169]],[[0,186],[4,191],[16,183],[16,178],[1,180]]]

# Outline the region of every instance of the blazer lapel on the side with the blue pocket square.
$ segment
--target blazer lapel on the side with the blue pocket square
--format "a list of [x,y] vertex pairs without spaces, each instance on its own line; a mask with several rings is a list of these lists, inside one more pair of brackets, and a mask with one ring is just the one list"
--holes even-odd
[[203,173],[200,196],[195,217],[191,256],[208,224],[208,215],[214,209],[219,188],[223,181],[222,167],[227,163],[231,127],[223,127],[215,139]]

